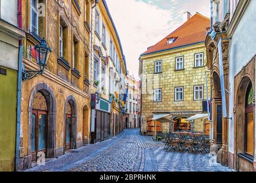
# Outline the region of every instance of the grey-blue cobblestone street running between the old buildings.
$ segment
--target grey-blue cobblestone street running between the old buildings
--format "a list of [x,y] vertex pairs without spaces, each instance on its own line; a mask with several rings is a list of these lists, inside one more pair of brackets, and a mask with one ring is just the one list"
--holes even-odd
[[141,136],[139,129],[73,150],[27,171],[69,172],[230,172],[208,154],[165,152],[162,142]]

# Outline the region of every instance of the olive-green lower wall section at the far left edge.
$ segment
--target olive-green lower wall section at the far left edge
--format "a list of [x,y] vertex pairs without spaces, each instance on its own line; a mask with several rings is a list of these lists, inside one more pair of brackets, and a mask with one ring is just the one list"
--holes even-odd
[[16,132],[17,71],[0,74],[0,172],[14,170]]

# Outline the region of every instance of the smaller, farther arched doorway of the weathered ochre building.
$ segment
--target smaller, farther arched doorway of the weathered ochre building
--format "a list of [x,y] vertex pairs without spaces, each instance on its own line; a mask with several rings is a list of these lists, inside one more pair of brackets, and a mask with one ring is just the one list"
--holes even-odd
[[64,151],[66,151],[76,149],[77,105],[73,96],[67,98],[64,110]]

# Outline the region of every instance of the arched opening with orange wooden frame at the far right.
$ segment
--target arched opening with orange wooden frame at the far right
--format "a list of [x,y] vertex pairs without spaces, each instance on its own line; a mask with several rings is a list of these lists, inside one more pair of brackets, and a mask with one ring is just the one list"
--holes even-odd
[[237,158],[236,166],[238,170],[250,171],[253,166],[250,162],[246,162],[247,168],[243,165],[243,157],[248,160],[254,160],[254,87],[249,77],[241,79],[237,90],[237,106],[235,110],[235,128],[236,128],[236,151],[239,157]]

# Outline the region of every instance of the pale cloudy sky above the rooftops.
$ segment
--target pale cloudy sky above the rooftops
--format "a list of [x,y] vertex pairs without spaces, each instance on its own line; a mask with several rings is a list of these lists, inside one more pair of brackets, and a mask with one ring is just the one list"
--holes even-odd
[[106,0],[129,73],[138,75],[140,54],[183,23],[184,11],[210,17],[210,0]]

